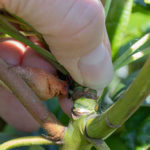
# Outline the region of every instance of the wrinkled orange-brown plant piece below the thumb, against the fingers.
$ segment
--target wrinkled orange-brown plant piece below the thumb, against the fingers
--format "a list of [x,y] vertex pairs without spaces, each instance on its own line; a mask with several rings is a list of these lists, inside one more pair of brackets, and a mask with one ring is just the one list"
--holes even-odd
[[47,100],[60,95],[67,95],[66,82],[38,68],[13,67],[41,100]]

